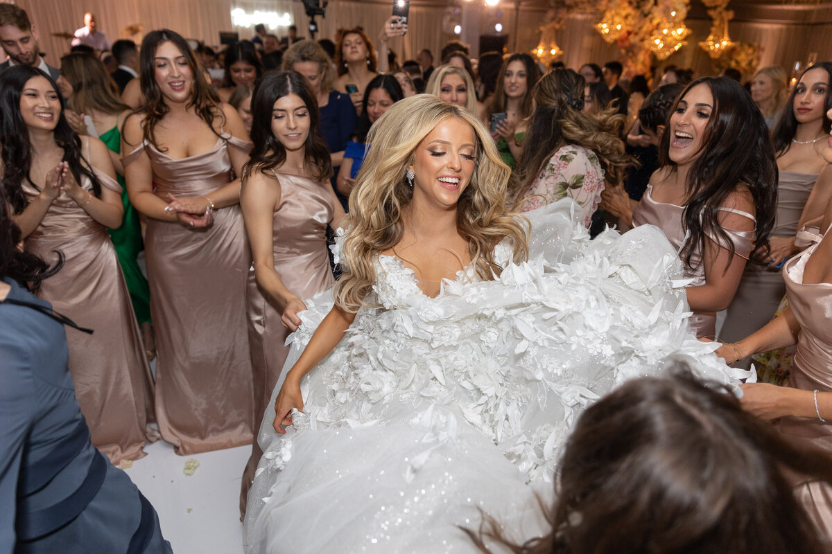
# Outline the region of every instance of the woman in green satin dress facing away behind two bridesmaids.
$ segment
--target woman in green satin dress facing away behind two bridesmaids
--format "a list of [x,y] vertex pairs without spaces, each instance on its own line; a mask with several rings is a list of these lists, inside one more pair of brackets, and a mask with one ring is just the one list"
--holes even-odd
[[[61,94],[67,100],[67,120],[79,135],[94,133],[110,149],[110,159],[116,168],[116,180],[121,185],[121,206],[124,218],[121,227],[110,229],[112,244],[116,247],[118,262],[124,272],[124,280],[130,291],[133,311],[141,329],[148,360],[156,357],[156,341],[151,326],[150,289],[141,272],[137,258],[145,246],[141,240],[139,213],[127,198],[124,188],[124,167],[121,165],[121,123],[130,108],[121,102],[118,89],[107,75],[104,64],[95,56],[74,52],[61,58],[61,76],[57,80]],[[82,117],[92,120],[93,128],[82,124]],[[73,124],[73,119],[75,123]],[[80,125],[79,125],[80,124]]]

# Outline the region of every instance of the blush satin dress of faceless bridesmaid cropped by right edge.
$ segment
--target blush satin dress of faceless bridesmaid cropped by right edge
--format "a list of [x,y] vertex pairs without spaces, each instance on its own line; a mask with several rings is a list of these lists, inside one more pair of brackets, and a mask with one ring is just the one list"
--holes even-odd
[[[789,386],[829,392],[832,391],[832,284],[804,284],[804,268],[820,243],[820,236],[800,233],[800,237],[810,238],[814,244],[791,258],[783,268],[789,305],[800,323]],[[780,431],[810,440],[832,455],[832,422],[784,417],[780,419]],[[832,487],[825,483],[802,482],[795,488],[795,493],[815,524],[826,537],[832,538]]]

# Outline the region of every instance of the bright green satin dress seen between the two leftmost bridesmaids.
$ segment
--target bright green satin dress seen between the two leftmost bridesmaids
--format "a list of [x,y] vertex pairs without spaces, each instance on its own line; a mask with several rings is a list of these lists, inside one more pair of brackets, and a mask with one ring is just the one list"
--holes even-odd
[[[121,154],[121,131],[116,126],[98,137],[107,148]],[[113,246],[116,247],[118,262],[121,264],[121,272],[124,273],[124,280],[127,283],[127,290],[130,292],[130,300],[133,304],[133,311],[136,312],[136,320],[141,323],[151,321],[151,292],[147,285],[147,279],[139,268],[136,257],[145,246],[141,241],[141,225],[139,213],[127,198],[127,188],[124,184],[124,177],[116,175],[118,184],[121,184],[121,205],[124,206],[124,219],[121,227],[108,229]]]

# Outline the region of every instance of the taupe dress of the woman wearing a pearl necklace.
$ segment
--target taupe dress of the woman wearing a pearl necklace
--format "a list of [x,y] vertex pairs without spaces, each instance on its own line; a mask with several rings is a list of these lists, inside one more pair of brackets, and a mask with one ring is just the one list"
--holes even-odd
[[[777,185],[777,218],[771,236],[795,236],[800,215],[817,179],[816,174],[780,171],[780,183]],[[736,342],[760,329],[775,316],[777,306],[784,295],[785,283],[782,272],[751,260],[745,266],[740,287],[737,288],[733,302],[728,306],[720,339]],[[742,366],[749,365],[750,358],[746,359]]]

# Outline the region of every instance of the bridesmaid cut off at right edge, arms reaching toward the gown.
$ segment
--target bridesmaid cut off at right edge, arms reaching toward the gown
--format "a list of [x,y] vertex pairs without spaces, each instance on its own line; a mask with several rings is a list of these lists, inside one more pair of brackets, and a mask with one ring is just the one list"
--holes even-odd
[[[832,117],[832,110],[829,111]],[[827,143],[832,143],[828,139]],[[832,144],[825,150],[832,163]],[[717,355],[727,364],[797,344],[789,385],[740,385],[740,402],[761,419],[780,419],[780,430],[832,453],[832,202],[827,204],[820,235],[801,233],[811,246],[783,267],[789,307],[759,331],[723,344]],[[806,479],[796,483],[797,498],[817,527],[832,538],[832,488]]]

